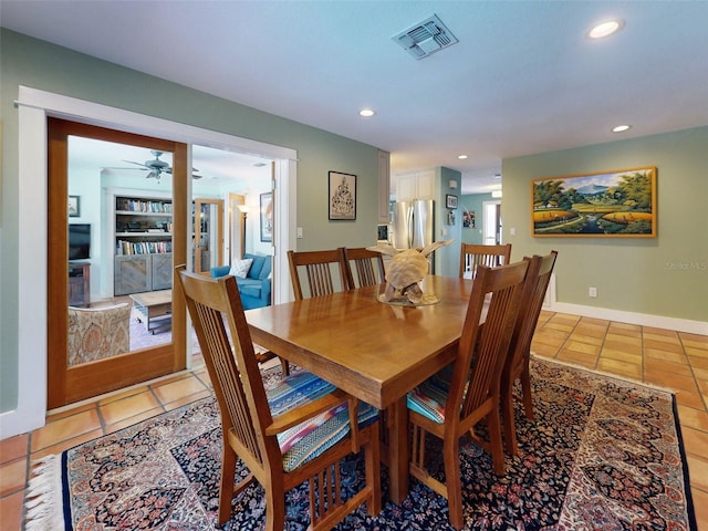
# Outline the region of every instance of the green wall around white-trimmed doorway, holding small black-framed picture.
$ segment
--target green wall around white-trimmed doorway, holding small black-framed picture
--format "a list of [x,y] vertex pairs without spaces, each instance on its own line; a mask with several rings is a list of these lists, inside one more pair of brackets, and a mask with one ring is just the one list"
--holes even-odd
[[[18,396],[19,85],[296,149],[299,249],[375,242],[376,147],[0,29],[0,413],[14,409]],[[356,221],[327,220],[329,170],[357,175]]]

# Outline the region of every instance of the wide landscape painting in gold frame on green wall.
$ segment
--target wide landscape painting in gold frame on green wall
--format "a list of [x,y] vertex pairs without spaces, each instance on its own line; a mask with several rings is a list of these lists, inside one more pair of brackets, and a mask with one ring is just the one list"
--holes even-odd
[[655,238],[656,167],[534,179],[538,237]]

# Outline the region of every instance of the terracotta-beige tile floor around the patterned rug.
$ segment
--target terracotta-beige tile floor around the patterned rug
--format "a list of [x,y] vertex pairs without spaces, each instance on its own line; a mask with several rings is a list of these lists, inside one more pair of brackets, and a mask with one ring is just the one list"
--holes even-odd
[[[698,530],[708,531],[708,336],[542,312],[537,354],[674,389]],[[46,425],[0,441],[0,529],[23,529],[30,464],[209,394],[202,367],[79,406],[50,412]]]

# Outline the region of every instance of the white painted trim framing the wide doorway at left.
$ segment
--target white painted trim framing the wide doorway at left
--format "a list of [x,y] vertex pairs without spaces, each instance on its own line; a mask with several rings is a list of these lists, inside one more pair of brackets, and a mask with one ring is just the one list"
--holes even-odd
[[[168,132],[168,136],[176,142],[258,154],[274,160],[274,179],[279,194],[275,194],[273,199],[279,216],[277,230],[273,231],[273,300],[288,300],[288,275],[277,273],[288,270],[287,253],[278,252],[278,249],[289,249],[295,243],[294,190],[298,153],[294,149],[27,86],[19,87],[17,106],[20,153],[18,197],[20,202],[34,207],[20,209],[18,217],[18,226],[22,227],[22,237],[18,242],[18,263],[22,263],[22,268],[18,270],[18,300],[21,301],[18,305],[19,322],[46,322],[49,315],[45,281],[49,272],[45,256],[49,240],[48,170],[46,159],[37,156],[38,152],[46,153],[49,116],[158,137],[165,137]],[[48,410],[48,335],[43,326],[40,329],[20,326],[18,331],[18,403],[15,409],[3,415],[8,435],[30,431],[44,424]]]

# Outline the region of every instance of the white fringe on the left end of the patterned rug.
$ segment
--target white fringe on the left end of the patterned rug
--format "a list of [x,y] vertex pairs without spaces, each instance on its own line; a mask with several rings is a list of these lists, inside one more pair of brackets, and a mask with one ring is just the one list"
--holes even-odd
[[61,456],[46,456],[33,462],[27,489],[25,531],[64,531]]

